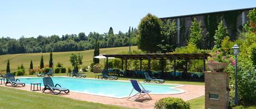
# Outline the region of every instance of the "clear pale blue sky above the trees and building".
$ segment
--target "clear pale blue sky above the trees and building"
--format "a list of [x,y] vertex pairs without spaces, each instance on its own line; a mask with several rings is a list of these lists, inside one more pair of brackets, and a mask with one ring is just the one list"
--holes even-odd
[[142,17],[199,14],[256,7],[255,0],[13,0],[0,1],[0,37],[126,33]]

